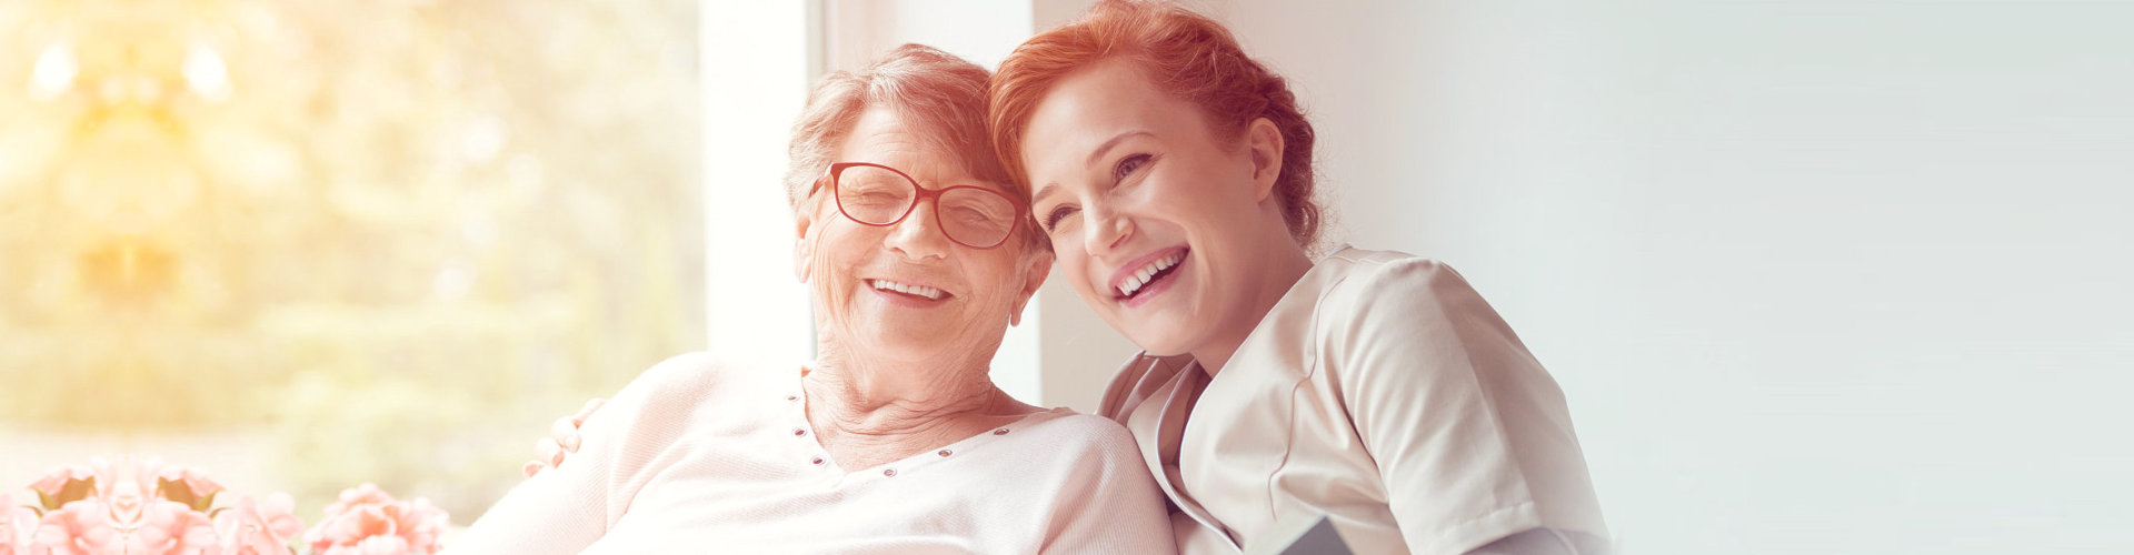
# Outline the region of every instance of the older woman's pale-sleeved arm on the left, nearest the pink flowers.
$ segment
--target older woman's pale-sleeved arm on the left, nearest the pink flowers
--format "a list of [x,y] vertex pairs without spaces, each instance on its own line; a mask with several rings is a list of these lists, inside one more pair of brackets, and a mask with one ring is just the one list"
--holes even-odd
[[578,553],[606,536],[649,480],[659,448],[681,433],[685,410],[672,395],[704,380],[698,356],[674,356],[647,369],[615,395],[600,414],[585,418],[585,440],[570,465],[553,467],[512,487],[450,553]]

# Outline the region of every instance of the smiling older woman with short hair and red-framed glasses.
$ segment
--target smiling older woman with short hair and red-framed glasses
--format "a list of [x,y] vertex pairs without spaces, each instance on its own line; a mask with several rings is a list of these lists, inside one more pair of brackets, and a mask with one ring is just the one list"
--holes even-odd
[[452,553],[1169,553],[1131,435],[988,380],[1050,252],[984,130],[986,70],[905,45],[794,126],[794,273],[817,359],[668,359],[570,465]]

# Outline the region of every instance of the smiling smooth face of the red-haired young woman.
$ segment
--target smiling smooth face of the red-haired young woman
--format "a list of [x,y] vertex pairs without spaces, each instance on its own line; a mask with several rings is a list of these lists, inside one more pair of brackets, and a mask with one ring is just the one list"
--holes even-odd
[[1248,141],[1221,141],[1118,60],[1061,79],[1022,141],[1061,275],[1112,329],[1180,354],[1259,322],[1248,299],[1280,209]]

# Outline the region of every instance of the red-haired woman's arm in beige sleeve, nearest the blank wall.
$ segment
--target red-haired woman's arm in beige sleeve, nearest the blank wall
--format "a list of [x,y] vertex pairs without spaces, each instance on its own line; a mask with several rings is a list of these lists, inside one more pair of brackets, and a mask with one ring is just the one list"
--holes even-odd
[[1466,553],[1536,527],[1600,534],[1562,391],[1496,310],[1430,260],[1351,280],[1357,297],[1327,314],[1325,367],[1408,549]]

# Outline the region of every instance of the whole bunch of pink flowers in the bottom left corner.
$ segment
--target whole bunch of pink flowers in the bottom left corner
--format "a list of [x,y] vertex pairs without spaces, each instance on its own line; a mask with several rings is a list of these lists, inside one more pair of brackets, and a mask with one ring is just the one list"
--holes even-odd
[[36,504],[0,491],[0,555],[435,553],[450,525],[429,500],[401,502],[361,485],[305,529],[288,493],[216,506],[222,485],[162,459],[98,457],[53,470],[30,489]]

